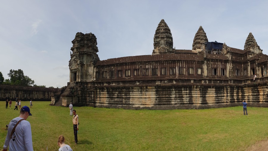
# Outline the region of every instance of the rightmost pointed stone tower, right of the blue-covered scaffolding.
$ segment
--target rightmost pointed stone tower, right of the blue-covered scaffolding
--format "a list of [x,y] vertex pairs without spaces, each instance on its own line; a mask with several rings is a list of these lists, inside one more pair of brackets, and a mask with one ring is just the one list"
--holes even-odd
[[260,49],[260,46],[258,46],[254,36],[250,32],[249,35],[247,36],[244,50],[253,52],[255,54],[262,53],[262,50]]

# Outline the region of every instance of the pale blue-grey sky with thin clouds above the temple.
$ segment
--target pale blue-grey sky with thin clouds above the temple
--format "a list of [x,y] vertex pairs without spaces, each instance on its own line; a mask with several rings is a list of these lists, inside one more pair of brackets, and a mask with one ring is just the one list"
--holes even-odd
[[0,71],[24,71],[36,85],[69,82],[71,41],[77,32],[97,38],[100,60],[151,55],[155,30],[164,19],[173,47],[192,49],[200,26],[208,41],[244,49],[252,32],[268,54],[268,1],[1,1]]

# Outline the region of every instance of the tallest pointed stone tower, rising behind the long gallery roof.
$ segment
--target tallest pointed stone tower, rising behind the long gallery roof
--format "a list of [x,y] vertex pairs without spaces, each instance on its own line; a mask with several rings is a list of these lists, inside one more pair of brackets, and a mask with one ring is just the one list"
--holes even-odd
[[173,38],[168,25],[162,19],[155,30],[154,50],[152,55],[172,53],[174,53]]

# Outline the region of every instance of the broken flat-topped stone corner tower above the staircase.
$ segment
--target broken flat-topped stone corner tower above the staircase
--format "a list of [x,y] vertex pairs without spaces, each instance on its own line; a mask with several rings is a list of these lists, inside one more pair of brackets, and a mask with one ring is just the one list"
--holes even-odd
[[72,43],[73,53],[69,61],[70,82],[94,80],[94,64],[99,60],[96,36],[92,33],[77,32]]

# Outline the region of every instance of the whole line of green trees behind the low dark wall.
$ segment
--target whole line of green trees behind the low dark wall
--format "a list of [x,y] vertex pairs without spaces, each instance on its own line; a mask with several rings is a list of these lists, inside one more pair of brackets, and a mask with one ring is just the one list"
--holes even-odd
[[[4,79],[2,72],[0,71],[0,84],[4,85],[19,85],[19,86],[35,86],[35,87],[42,87],[46,88],[46,85],[36,85],[34,84],[35,81],[29,78],[27,75],[24,75],[21,69],[12,70],[10,69],[9,73],[7,74],[10,79]],[[54,87],[49,87],[54,88]]]

